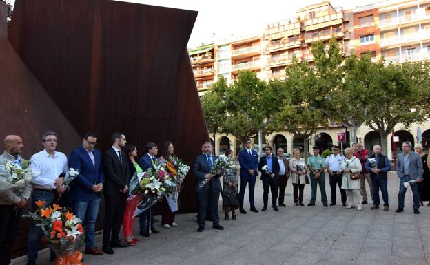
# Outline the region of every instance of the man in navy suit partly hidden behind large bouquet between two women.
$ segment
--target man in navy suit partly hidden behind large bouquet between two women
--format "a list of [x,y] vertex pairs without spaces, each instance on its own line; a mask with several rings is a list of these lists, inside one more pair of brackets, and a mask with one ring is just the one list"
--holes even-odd
[[[154,165],[158,161],[156,155],[158,154],[158,147],[154,142],[147,142],[145,145],[147,153],[145,153],[137,162],[143,172],[146,172],[150,168],[154,168]],[[160,231],[154,227],[154,213],[156,204],[152,205],[150,209],[147,209],[139,215],[139,234],[143,237],[149,237],[150,233],[158,234]],[[148,225],[150,223],[150,225]]]

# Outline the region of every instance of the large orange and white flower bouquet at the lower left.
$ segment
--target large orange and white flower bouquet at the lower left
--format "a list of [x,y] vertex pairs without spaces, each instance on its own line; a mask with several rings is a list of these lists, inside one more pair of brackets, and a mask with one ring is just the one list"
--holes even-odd
[[83,246],[83,228],[81,220],[73,213],[62,209],[57,204],[43,208],[45,202],[36,202],[39,209],[34,213],[28,213],[25,217],[36,222],[49,244],[57,254],[55,265],[81,265]]

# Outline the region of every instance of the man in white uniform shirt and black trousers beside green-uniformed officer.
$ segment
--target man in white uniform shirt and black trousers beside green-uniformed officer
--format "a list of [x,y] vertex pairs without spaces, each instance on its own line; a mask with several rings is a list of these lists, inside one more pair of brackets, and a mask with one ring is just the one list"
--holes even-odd
[[345,160],[345,157],[339,153],[340,148],[337,145],[334,145],[331,148],[331,151],[333,151],[333,154],[327,156],[327,158],[325,159],[325,167],[329,172],[330,178],[330,206],[336,205],[337,184],[340,189],[340,199],[342,200],[342,206],[346,207],[347,193],[345,192],[345,189],[342,189],[342,173],[340,173],[340,164],[342,164],[342,161]]

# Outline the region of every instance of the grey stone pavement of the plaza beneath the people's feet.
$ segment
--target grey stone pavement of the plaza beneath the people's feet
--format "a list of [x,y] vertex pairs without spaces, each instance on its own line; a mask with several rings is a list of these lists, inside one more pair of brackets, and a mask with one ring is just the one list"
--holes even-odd
[[[239,214],[237,220],[227,221],[220,211],[225,230],[214,230],[207,222],[203,233],[197,232],[196,214],[181,214],[176,215],[178,228],[162,229],[157,222],[161,233],[151,237],[139,236],[136,222],[134,232],[141,240],[137,246],[115,248],[114,255],[86,255],[85,264],[430,265],[430,207],[424,204],[420,215],[413,214],[412,194],[408,191],[405,211],[395,213],[398,185],[396,173],[391,172],[391,208],[384,212],[371,211],[371,204],[365,205],[363,211],[341,205],[325,208],[319,201],[319,190],[316,206],[294,206],[292,186],[288,183],[287,207],[280,207],[279,212],[269,208],[263,213]],[[326,190],[329,197],[328,177]],[[310,193],[310,185],[306,185],[305,204]],[[258,180],[258,209],[263,206],[262,197],[263,187]],[[249,210],[249,204],[245,209]],[[97,240],[101,246],[100,235]],[[25,264],[25,257],[12,264]],[[48,262],[48,251],[41,251],[37,264],[52,264]]]

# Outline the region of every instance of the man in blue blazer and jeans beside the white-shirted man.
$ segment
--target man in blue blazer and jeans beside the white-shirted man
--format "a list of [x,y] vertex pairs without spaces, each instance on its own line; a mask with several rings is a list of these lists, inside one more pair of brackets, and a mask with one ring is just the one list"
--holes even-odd
[[85,226],[85,254],[102,255],[103,251],[94,246],[94,225],[105,182],[101,153],[94,148],[96,144],[96,134],[86,133],[81,147],[70,153],[69,167],[80,172],[72,182],[70,195],[74,214]]

